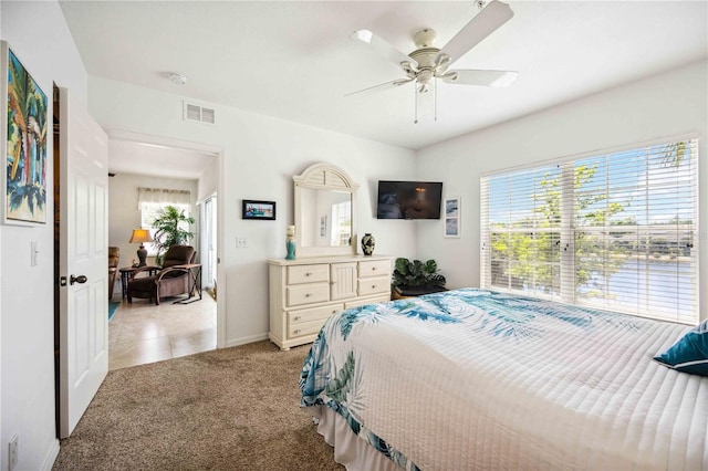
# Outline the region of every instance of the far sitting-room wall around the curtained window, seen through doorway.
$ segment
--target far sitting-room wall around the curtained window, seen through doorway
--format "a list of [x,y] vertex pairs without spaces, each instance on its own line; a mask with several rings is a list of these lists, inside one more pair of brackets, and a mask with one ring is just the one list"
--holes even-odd
[[[111,157],[113,158],[113,156]],[[197,222],[197,180],[179,178],[150,177],[145,175],[117,174],[108,179],[108,245],[121,249],[119,266],[131,266],[133,260],[137,261],[138,244],[129,243],[133,229],[140,227],[140,211],[137,207],[137,189],[164,188],[169,190],[188,190],[191,192],[191,208],[189,214]],[[199,224],[191,226],[195,238],[189,244],[199,253]],[[155,258],[148,257],[148,264],[155,264]],[[114,293],[118,293],[119,286]]]

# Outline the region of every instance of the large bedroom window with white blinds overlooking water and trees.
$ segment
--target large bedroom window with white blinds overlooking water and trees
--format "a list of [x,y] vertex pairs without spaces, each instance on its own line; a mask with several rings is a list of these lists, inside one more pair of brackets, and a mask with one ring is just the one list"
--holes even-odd
[[481,286],[695,324],[696,140],[481,178]]

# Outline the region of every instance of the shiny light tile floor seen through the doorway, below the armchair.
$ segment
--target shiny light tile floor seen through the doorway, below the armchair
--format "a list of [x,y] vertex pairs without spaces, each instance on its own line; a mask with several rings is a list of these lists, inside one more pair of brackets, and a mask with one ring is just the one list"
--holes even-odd
[[[119,293],[114,297],[117,301]],[[108,323],[108,369],[160,362],[217,347],[217,303],[201,301],[159,306],[148,300],[123,300]]]

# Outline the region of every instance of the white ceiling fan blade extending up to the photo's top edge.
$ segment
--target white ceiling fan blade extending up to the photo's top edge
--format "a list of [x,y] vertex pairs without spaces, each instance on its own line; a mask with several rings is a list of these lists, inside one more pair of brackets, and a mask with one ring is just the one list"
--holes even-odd
[[499,27],[513,17],[513,11],[507,3],[491,1],[469,23],[467,23],[445,46],[440,54],[450,56],[450,64],[460,59],[470,49],[479,44],[485,38],[493,33]]

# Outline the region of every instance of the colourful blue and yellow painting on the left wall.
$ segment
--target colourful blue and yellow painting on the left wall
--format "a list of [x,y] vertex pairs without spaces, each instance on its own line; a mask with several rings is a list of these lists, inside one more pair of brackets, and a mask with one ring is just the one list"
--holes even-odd
[[2,165],[2,222],[46,223],[46,95],[7,42],[0,41],[0,96],[7,114],[0,116]]

